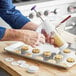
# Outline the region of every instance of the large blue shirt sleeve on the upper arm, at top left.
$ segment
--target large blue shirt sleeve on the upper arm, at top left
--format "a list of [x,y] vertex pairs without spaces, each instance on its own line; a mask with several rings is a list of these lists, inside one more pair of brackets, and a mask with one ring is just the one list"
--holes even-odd
[[30,20],[12,4],[12,0],[0,0],[0,16],[12,28],[20,29]]

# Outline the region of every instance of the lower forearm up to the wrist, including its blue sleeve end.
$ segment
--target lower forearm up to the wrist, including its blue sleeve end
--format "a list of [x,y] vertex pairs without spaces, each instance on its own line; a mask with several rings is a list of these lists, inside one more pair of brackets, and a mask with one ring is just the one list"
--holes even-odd
[[20,32],[18,30],[0,27],[0,41],[15,41],[19,36]]

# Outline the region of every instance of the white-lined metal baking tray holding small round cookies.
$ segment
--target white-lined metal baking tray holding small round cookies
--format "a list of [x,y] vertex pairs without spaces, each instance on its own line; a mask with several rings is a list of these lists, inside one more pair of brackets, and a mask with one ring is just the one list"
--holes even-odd
[[[27,52],[25,52],[25,54],[21,53],[21,47],[22,46],[28,46],[29,47],[29,50]],[[40,49],[40,53],[39,54],[33,54],[32,49]],[[39,62],[43,62],[43,63],[50,64],[50,65],[57,66],[57,67],[62,67],[65,69],[68,69],[68,68],[70,68],[76,64],[76,52],[75,51],[71,50],[72,54],[65,56],[61,53],[61,50],[59,48],[56,48],[53,45],[50,45],[47,43],[46,44],[40,44],[39,46],[33,48],[30,45],[27,45],[23,42],[17,42],[17,43],[10,45],[10,46],[5,47],[4,50],[12,53],[13,55],[16,54],[18,56],[22,56],[22,57],[29,58],[32,60],[37,60]],[[16,50],[20,51],[20,53],[17,53]],[[44,57],[43,56],[44,51],[51,51],[52,55],[50,57]],[[32,56],[31,57],[26,56],[26,54],[28,54],[28,53],[32,54]],[[54,60],[54,56],[56,54],[61,54],[63,56],[63,59],[59,62],[56,62],[56,63],[48,62],[49,60],[52,60],[52,59]],[[36,57],[42,57],[43,60],[37,59]],[[73,62],[73,63],[67,62],[66,59],[69,57],[74,58],[75,62]]]

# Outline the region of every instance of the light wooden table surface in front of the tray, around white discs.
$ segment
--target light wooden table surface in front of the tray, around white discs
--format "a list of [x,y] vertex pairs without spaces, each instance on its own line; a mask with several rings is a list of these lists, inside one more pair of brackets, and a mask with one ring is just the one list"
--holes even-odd
[[[18,57],[4,51],[4,48],[14,42],[0,42],[0,67],[6,70],[12,76],[76,76],[76,65],[68,70],[47,65],[34,60]],[[10,62],[6,62],[4,58],[13,57],[15,60],[25,60],[30,65],[39,66],[39,72],[30,74],[19,66],[12,66]]]

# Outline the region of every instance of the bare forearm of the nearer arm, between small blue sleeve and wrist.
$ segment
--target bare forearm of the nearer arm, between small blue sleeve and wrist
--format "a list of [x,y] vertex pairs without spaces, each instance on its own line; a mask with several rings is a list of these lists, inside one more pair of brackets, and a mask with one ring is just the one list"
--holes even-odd
[[1,41],[15,41],[19,37],[19,31],[15,29],[6,29]]

